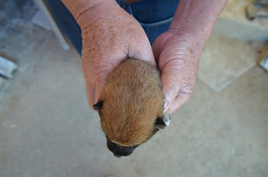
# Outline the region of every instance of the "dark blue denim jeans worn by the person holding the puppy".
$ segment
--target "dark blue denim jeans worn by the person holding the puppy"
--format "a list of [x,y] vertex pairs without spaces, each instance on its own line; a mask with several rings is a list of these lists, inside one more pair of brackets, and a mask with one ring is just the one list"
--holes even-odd
[[[60,0],[46,1],[59,28],[81,55],[81,30],[75,18]],[[116,1],[141,24],[151,44],[158,35],[168,31],[179,2],[179,0],[141,0],[124,5],[124,0]]]

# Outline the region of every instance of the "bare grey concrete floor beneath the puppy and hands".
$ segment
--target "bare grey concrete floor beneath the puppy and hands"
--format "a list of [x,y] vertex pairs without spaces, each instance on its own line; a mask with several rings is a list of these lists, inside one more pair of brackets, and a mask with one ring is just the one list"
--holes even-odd
[[220,91],[197,79],[170,126],[118,159],[87,105],[74,48],[18,16],[0,29],[0,55],[19,65],[0,100],[0,177],[268,177],[268,73],[256,64]]

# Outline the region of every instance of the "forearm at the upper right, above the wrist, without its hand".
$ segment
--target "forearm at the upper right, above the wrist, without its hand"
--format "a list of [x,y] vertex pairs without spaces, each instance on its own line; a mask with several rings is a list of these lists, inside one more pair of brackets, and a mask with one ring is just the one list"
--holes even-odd
[[194,35],[204,45],[228,0],[180,0],[170,32]]

